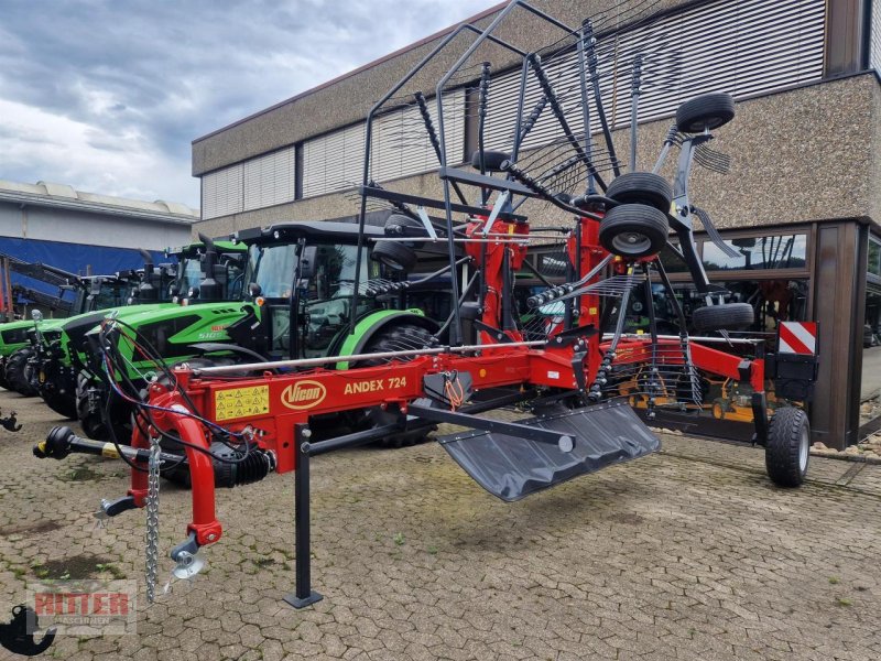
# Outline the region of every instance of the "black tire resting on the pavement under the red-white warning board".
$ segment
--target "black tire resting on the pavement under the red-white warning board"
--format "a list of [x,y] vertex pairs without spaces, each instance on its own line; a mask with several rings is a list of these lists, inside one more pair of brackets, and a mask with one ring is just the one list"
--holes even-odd
[[811,424],[807,414],[795,407],[774,412],[768,426],[764,465],[768,477],[780,487],[800,487],[805,481],[811,459]]

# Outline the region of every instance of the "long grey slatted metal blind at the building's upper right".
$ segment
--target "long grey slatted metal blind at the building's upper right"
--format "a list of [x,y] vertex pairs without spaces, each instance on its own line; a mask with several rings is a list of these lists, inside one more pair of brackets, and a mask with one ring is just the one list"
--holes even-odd
[[[875,2],[878,4],[878,2]],[[603,44],[600,89],[610,121],[630,123],[633,57],[645,56],[639,119],[675,111],[683,101],[707,91],[728,91],[735,98],[817,80],[823,76],[825,0],[718,0],[637,26]],[[556,94],[568,96],[564,110],[574,131],[583,130],[575,53],[547,63]],[[605,67],[605,68],[603,68]],[[494,78],[489,91],[486,142],[489,149],[510,150],[520,86],[520,71]],[[526,87],[524,111],[541,98],[534,75]],[[567,107],[568,105],[568,107]],[[591,131],[599,130],[591,113]],[[546,108],[523,143],[525,149],[562,137]]]

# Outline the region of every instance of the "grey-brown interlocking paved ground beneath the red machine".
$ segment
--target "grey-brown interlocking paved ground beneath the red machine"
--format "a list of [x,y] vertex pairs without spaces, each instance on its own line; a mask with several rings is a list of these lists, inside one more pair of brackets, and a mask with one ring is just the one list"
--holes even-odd
[[[323,602],[281,602],[294,559],[284,475],[221,492],[209,571],[146,608],[143,512],[104,530],[90,518],[124,492],[123,467],[37,460],[32,444],[59,421],[12,393],[0,408],[25,425],[0,430],[0,619],[47,566],[141,585],[138,636],[66,637],[47,657],[881,658],[880,466],[813,458],[811,483],[782,490],[758,449],[665,435],[661,454],[505,505],[436,444],[327,455],[313,463]],[[187,499],[163,487],[163,555]]]

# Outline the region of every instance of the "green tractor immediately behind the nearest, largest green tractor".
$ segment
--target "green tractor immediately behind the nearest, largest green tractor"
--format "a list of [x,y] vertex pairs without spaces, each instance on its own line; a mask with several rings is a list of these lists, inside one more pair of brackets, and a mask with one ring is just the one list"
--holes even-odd
[[[222,248],[222,247],[221,247]],[[243,250],[226,246],[231,263],[241,262]],[[100,324],[108,315],[131,315],[162,308],[181,307],[178,292],[198,285],[203,243],[166,250],[166,256],[177,258],[177,266],[154,266],[150,253],[144,256],[144,271],[134,286],[120,291],[112,300],[97,299],[90,312],[51,325],[35,324],[32,333],[29,376],[46,404],[56,413],[76,420],[77,378],[85,367],[83,350],[88,330]],[[240,272],[240,267],[235,267]]]

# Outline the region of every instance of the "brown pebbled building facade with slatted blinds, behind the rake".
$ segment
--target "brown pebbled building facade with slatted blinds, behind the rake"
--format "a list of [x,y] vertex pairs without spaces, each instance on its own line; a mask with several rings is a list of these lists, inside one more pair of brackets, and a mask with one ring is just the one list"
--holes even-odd
[[[646,76],[640,95],[637,155],[643,166],[653,162],[679,104],[706,91],[735,97],[737,117],[714,142],[730,155],[730,172],[700,170],[692,188],[742,259],[725,257],[701,236],[705,266],[711,280],[755,303],[763,329],[781,318],[819,322],[820,379],[811,409],[816,441],[844,447],[881,426],[872,403],[881,388],[872,375],[881,364],[872,367],[871,346],[881,335],[881,1],[668,0],[655,3],[662,13],[650,26],[611,0],[532,4],[568,25],[594,17],[598,30],[619,31],[621,54],[609,57],[601,94],[621,152],[631,108],[622,54],[635,43],[653,43],[663,54],[657,62],[665,75]],[[486,26],[503,7],[469,22]],[[356,214],[365,118],[450,30],[195,140],[193,174],[202,180],[195,227],[220,235]],[[529,17],[499,34],[524,51],[559,39]],[[426,96],[466,45],[426,68]],[[564,85],[565,71],[555,75]],[[477,144],[478,77],[475,69],[444,90],[449,164],[468,161]],[[490,149],[510,141],[503,127],[518,79],[503,55],[493,57]],[[414,111],[402,107],[376,119],[370,177],[396,191],[438,195],[434,149],[409,132]],[[552,123],[542,121],[531,147],[555,137]]]

